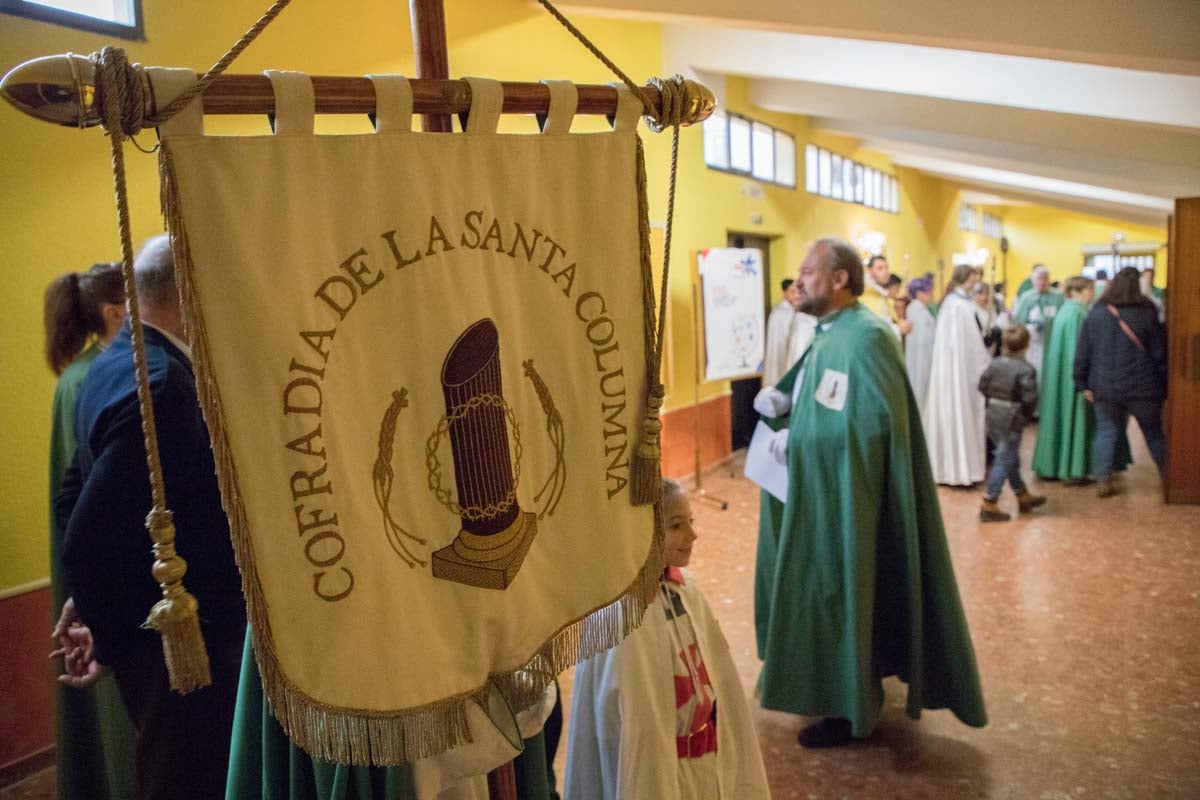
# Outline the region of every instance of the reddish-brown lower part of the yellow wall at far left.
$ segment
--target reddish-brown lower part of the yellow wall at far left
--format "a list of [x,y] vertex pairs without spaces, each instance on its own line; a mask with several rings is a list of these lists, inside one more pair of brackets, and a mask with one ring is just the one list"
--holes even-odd
[[54,747],[50,588],[0,599],[0,776],[20,780]]

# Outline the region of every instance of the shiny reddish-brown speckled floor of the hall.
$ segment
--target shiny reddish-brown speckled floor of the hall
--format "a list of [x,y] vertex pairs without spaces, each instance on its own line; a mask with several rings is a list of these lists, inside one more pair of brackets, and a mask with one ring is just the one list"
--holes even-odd
[[[1034,485],[1045,507],[980,525],[978,492],[940,491],[991,723],[908,720],[893,682],[874,736],[809,752],[796,744],[802,718],[751,699],[776,800],[1200,799],[1200,510],[1163,505],[1140,433],[1130,439],[1138,464],[1106,500]],[[1032,432],[1025,444],[1028,464]],[[691,569],[749,696],[758,493],[736,471],[706,477],[730,507],[694,504]],[[1010,495],[1001,505],[1015,512]],[[563,688],[570,708],[570,675]],[[0,792],[49,796],[53,770]]]

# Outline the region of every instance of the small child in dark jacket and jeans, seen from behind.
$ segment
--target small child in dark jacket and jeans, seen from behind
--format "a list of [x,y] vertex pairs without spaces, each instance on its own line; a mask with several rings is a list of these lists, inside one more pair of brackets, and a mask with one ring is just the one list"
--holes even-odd
[[1006,480],[1016,493],[1022,513],[1046,501],[1032,494],[1021,480],[1021,432],[1038,409],[1038,372],[1025,360],[1030,332],[1022,325],[1009,325],[1001,341],[1004,355],[995,359],[979,378],[979,391],[988,398],[988,438],[996,445],[979,509],[983,522],[1012,519],[996,505]]

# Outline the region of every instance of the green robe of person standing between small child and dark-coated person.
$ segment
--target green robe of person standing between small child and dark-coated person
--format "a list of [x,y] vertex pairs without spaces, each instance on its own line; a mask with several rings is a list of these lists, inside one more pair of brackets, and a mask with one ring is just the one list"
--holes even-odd
[[1087,307],[1068,300],[1055,315],[1055,336],[1042,356],[1042,397],[1038,401],[1038,441],[1033,473],[1045,479],[1085,479],[1092,473],[1096,413],[1075,391],[1075,343]]

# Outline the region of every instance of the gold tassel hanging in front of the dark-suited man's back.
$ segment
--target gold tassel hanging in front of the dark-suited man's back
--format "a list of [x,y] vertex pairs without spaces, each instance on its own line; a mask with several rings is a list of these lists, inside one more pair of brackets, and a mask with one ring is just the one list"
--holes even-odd
[[186,694],[212,682],[209,654],[200,634],[199,603],[184,588],[187,563],[175,553],[175,523],[169,511],[154,510],[146,517],[154,539],[155,563],[151,572],[162,587],[162,600],[154,604],[143,627],[162,637],[162,655],[167,662],[170,687]]

